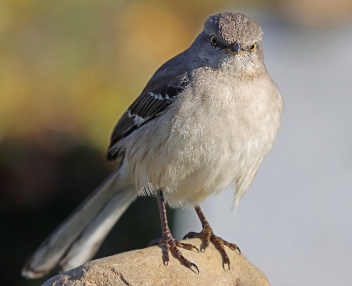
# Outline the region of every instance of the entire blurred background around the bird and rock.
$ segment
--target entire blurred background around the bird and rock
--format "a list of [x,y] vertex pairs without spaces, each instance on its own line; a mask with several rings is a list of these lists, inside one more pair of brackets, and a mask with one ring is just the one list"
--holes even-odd
[[[231,190],[203,212],[271,285],[350,284],[352,1],[8,0],[0,2],[0,285],[50,277],[26,280],[20,270],[114,169],[105,154],[122,112],[208,16],[228,11],[263,26],[285,115],[236,217]],[[201,229],[193,209],[168,216],[176,238]],[[159,236],[155,198],[139,198],[96,257]]]

